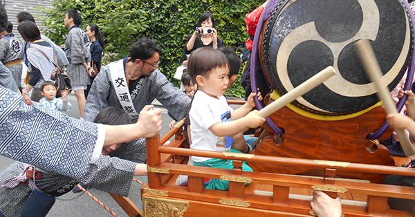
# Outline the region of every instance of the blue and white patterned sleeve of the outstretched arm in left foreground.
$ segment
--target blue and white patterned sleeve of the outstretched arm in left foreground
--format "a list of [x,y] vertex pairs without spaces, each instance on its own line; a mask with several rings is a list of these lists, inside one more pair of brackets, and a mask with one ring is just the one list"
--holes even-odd
[[71,178],[85,175],[98,138],[96,124],[27,106],[0,86],[0,154]]

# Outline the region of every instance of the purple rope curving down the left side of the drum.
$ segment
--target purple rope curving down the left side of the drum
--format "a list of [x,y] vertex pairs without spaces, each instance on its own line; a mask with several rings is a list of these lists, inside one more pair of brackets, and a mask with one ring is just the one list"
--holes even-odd
[[[257,80],[256,80],[256,74],[257,70],[261,68],[261,63],[259,62],[259,39],[261,38],[261,30],[264,26],[264,21],[270,17],[271,13],[273,12],[273,9],[281,0],[270,0],[266,4],[264,11],[261,14],[261,17],[259,18],[257,29],[255,30],[255,37],[254,37],[254,45],[252,46],[252,53],[251,53],[251,65],[250,65],[250,75],[251,75],[251,86],[252,90],[257,90]],[[260,110],[264,108],[264,105],[259,102],[257,96],[254,98],[255,104],[257,105],[257,109]],[[266,122],[268,125],[273,129],[274,133],[282,135],[284,133],[284,130],[279,128],[273,120],[270,119],[270,117],[266,117]]]

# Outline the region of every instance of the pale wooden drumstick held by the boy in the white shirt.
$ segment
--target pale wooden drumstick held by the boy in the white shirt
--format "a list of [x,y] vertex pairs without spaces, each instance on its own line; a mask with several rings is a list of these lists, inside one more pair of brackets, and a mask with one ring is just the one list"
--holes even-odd
[[258,111],[258,115],[261,117],[268,117],[268,115],[275,113],[278,109],[286,106],[286,104],[293,102],[298,97],[304,95],[311,89],[315,88],[319,84],[322,84],[326,79],[329,79],[331,76],[335,75],[335,70],[333,66],[328,66],[317,73],[313,77],[310,77],[308,80],[300,84],[299,86],[293,88],[293,90],[289,91],[288,93],[282,95],[277,100],[265,106],[263,109]]

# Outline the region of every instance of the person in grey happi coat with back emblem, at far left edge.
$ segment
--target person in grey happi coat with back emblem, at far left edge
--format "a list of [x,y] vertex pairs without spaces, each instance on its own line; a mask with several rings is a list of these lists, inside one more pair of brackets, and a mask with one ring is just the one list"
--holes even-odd
[[10,70],[19,89],[21,89],[21,70],[23,68],[23,44],[12,33],[13,25],[8,21],[6,29],[1,32],[0,62]]

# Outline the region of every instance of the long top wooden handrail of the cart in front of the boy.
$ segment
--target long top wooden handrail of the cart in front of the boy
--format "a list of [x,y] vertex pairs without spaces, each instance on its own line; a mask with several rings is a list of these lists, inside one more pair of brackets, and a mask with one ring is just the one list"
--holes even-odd
[[288,166],[300,166],[313,169],[342,169],[345,171],[365,172],[365,173],[381,173],[381,174],[393,174],[400,176],[415,176],[415,169],[405,167],[392,167],[374,164],[360,164],[353,162],[339,162],[328,160],[307,160],[298,158],[282,158],[275,156],[264,155],[250,155],[250,154],[232,154],[228,152],[217,151],[201,151],[194,149],[172,148],[172,147],[158,147],[160,153],[170,153],[174,155],[195,155],[205,158],[220,158],[226,160],[243,160],[247,162],[261,162],[272,163]]

